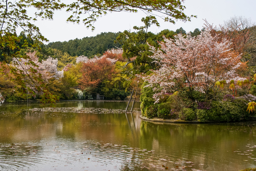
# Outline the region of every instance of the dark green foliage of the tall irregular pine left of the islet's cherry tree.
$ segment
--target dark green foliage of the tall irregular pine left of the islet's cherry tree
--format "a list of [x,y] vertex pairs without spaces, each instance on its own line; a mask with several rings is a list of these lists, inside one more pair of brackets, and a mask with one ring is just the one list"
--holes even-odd
[[123,57],[127,58],[129,61],[135,61],[134,72],[136,73],[146,73],[150,69],[157,69],[155,63],[153,63],[154,60],[149,57],[152,56],[153,53],[148,44],[159,47],[158,42],[163,40],[163,35],[167,38],[173,38],[173,35],[175,35],[175,32],[169,31],[168,29],[158,34],[148,32],[147,29],[150,25],[158,25],[154,18],[146,17],[146,19],[142,19],[142,22],[144,26],[133,27],[137,32],[125,30],[118,35],[115,41],[123,45]]

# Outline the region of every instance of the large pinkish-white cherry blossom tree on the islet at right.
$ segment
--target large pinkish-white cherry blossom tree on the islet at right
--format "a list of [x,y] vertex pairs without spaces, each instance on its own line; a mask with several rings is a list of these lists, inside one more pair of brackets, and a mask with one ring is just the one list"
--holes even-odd
[[164,93],[184,88],[207,93],[217,80],[244,80],[236,73],[242,65],[241,54],[232,50],[229,40],[220,40],[209,30],[197,37],[178,34],[175,39],[164,38],[160,45],[159,49],[151,46],[154,53],[151,58],[159,70],[141,76],[153,87],[156,102]]

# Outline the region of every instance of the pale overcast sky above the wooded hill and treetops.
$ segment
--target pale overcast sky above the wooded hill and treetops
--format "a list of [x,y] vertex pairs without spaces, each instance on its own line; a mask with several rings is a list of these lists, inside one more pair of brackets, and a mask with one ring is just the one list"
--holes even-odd
[[[176,29],[182,27],[186,32],[189,32],[194,31],[195,28],[202,29],[203,19],[214,25],[219,25],[235,15],[251,18],[253,22],[256,22],[256,0],[185,0],[183,5],[186,6],[184,11],[186,15],[197,15],[197,18],[192,18],[191,22],[186,23],[178,21],[175,25],[158,19],[160,28],[151,26],[149,31],[154,33],[163,29],[176,31]],[[101,32],[123,32],[132,29],[133,26],[142,26],[141,18],[146,15],[143,12],[108,13],[106,16],[97,19],[94,23],[96,29],[93,32],[87,29],[83,23],[80,25],[67,23],[68,16],[70,14],[65,10],[57,11],[53,20],[38,20],[35,24],[40,28],[41,33],[49,39],[49,42],[68,41],[75,38],[95,36]]]

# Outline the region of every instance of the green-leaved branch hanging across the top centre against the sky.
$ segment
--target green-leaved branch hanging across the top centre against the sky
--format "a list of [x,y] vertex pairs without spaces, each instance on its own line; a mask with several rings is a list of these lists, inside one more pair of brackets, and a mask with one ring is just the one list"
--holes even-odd
[[[67,21],[73,23],[80,23],[81,21],[87,28],[95,29],[93,23],[96,19],[102,15],[106,15],[107,12],[138,12],[138,9],[142,10],[149,16],[154,13],[154,16],[150,18],[154,19],[154,24],[159,26],[159,23],[155,19],[155,16],[161,15],[161,18],[166,22],[175,23],[175,20],[190,21],[194,15],[186,16],[183,13],[185,6],[183,6],[180,0],[147,0],[147,1],[130,1],[130,0],[77,0],[67,7],[67,12],[73,12]],[[88,13],[89,17],[80,19],[80,15]],[[147,18],[144,18],[145,22]]]

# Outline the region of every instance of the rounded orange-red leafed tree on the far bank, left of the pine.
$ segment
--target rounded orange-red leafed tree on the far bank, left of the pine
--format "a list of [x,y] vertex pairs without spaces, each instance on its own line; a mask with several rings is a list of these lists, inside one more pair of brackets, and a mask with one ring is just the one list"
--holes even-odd
[[79,80],[80,88],[96,88],[103,80],[112,79],[115,65],[107,57],[102,57],[99,60],[89,60],[87,63],[83,63],[81,72],[83,78]]

